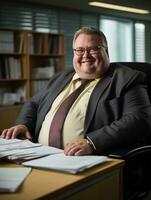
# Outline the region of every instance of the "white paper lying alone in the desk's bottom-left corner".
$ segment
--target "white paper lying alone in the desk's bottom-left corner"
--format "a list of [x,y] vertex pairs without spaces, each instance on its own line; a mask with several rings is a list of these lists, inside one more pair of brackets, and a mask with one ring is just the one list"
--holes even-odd
[[30,167],[0,168],[0,192],[17,191],[30,172]]

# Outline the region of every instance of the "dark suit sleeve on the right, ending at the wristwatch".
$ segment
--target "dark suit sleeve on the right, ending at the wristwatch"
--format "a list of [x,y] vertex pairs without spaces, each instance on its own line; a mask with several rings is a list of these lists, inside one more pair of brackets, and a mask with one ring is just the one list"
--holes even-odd
[[[99,129],[91,129],[87,134],[97,153],[107,153],[115,148],[141,143],[151,131],[151,106],[142,73],[132,76],[122,86],[113,105],[112,110],[117,117]],[[106,115],[110,115],[110,112],[106,112]]]

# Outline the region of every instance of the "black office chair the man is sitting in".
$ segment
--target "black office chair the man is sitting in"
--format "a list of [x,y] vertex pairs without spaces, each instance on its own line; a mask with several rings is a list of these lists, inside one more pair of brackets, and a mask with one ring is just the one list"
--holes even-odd
[[[151,63],[147,62],[119,62],[119,64],[128,66],[132,69],[136,69],[139,71],[142,71],[146,74],[147,77],[147,85],[148,85],[148,95],[151,102]],[[135,159],[131,157],[130,160],[133,160],[133,162],[130,164],[127,164],[127,171],[124,173],[127,177],[131,176],[131,179],[134,182],[134,185],[136,186],[138,183],[141,185],[139,186],[136,191],[132,191],[132,195],[128,198],[131,200],[136,199],[144,199],[145,195],[151,190],[151,134],[147,137],[147,146],[140,147],[142,149],[136,148],[131,151],[131,156],[135,152],[139,152],[139,156],[134,156]],[[145,150],[145,151],[143,151]],[[130,152],[129,152],[130,155]],[[125,169],[125,170],[126,170]],[[134,171],[134,173],[129,173],[131,169],[131,172]],[[133,176],[134,175],[134,176]],[[128,178],[129,180],[129,178]],[[132,184],[132,182],[130,182]],[[131,188],[131,185],[128,182],[128,187]],[[139,185],[138,184],[138,185]],[[136,187],[134,187],[136,188]],[[131,188],[132,189],[132,188]],[[126,198],[127,199],[127,198]],[[149,199],[149,198],[147,198]]]

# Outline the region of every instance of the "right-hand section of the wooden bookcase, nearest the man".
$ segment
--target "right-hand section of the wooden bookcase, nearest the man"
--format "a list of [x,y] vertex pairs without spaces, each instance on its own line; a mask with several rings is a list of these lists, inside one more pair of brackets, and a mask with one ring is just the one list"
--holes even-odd
[[30,96],[40,90],[56,72],[64,69],[64,35],[28,33]]

